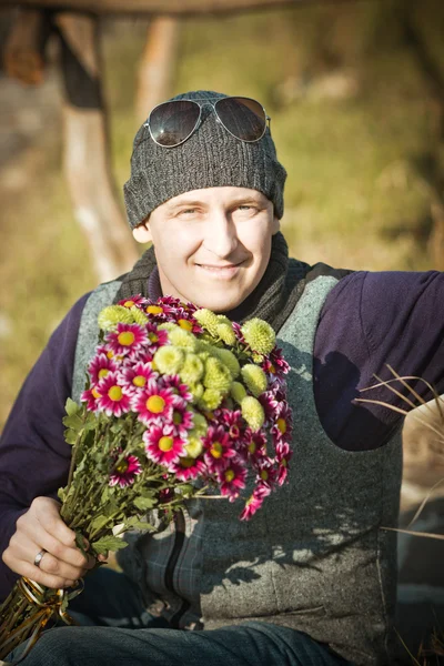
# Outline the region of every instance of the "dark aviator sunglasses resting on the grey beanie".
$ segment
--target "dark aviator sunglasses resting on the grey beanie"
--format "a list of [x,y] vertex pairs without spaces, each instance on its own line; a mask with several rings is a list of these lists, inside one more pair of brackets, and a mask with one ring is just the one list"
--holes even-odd
[[158,145],[175,148],[196,131],[204,107],[211,107],[218,122],[240,141],[260,141],[265,134],[266,123],[270,129],[271,118],[266,115],[262,104],[244,97],[163,102],[154,107],[144,127],[148,127]]

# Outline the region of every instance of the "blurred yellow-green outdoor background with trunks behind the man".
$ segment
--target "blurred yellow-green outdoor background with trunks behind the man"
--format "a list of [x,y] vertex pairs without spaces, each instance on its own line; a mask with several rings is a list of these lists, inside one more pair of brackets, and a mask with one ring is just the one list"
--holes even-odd
[[[0,8],[0,428],[68,309],[142,251],[122,185],[137,129],[175,93],[263,103],[294,256],[444,270],[442,0],[164,0],[170,17],[130,13],[150,0],[98,4],[110,11]],[[412,432],[406,505],[444,476]]]

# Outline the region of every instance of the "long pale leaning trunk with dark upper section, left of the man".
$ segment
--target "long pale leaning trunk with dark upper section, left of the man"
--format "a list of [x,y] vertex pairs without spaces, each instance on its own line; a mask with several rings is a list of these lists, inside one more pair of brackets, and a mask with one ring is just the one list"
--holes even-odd
[[138,253],[111,178],[97,19],[60,13],[54,22],[62,42],[68,97],[64,171],[97,275],[100,281],[108,281],[128,271]]

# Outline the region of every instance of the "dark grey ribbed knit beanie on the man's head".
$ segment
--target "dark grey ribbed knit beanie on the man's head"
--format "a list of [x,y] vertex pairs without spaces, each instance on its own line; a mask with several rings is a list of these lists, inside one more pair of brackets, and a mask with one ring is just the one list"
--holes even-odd
[[[228,95],[199,90],[172,99],[224,97]],[[216,122],[206,105],[198,130],[176,148],[158,145],[148,127],[140,128],[133,143],[131,175],[123,186],[128,220],[134,229],[173,196],[224,185],[259,190],[273,202],[274,214],[281,219],[285,178],[286,171],[278,161],[269,130],[254,143],[240,141]]]

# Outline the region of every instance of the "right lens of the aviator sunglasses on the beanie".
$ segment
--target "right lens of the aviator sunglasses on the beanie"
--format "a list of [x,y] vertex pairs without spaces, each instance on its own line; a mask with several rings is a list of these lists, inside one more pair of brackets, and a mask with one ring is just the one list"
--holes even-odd
[[215,103],[215,110],[229,132],[242,141],[258,141],[265,132],[265,111],[255,100],[223,98]]

